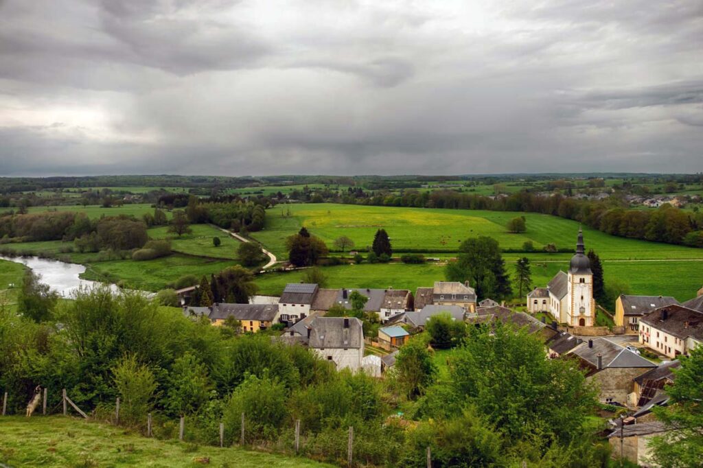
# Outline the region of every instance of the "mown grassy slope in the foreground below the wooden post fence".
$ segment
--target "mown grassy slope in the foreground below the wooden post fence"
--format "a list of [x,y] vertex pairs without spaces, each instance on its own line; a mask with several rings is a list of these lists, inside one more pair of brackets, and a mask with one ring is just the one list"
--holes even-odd
[[160,441],[70,417],[0,420],[0,462],[26,467],[329,467],[299,457]]

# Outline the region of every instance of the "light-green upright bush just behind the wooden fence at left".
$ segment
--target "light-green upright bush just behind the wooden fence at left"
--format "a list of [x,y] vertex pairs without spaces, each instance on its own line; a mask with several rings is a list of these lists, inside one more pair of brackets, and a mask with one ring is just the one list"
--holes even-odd
[[114,368],[112,379],[120,395],[120,420],[134,425],[143,422],[153,406],[156,379],[148,365],[140,364],[136,355],[124,356]]

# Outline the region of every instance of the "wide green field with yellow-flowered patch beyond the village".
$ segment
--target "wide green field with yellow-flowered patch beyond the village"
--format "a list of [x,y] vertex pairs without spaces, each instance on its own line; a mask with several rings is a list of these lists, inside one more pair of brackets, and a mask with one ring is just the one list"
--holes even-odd
[[[282,216],[290,209],[291,216]],[[527,232],[511,234],[506,223],[525,216]],[[387,230],[396,249],[457,249],[466,238],[489,235],[503,249],[520,249],[531,240],[537,249],[554,243],[560,248],[576,244],[579,223],[535,213],[489,212],[463,209],[366,207],[350,204],[292,204],[269,209],[265,229],[252,233],[278,256],[285,256],[285,238],[305,226],[329,246],[340,235],[354,240],[357,249],[373,242],[379,228]],[[601,259],[703,259],[703,249],[619,238],[584,227],[587,249]],[[539,254],[549,259],[548,254]]]

